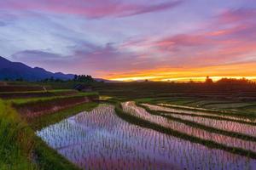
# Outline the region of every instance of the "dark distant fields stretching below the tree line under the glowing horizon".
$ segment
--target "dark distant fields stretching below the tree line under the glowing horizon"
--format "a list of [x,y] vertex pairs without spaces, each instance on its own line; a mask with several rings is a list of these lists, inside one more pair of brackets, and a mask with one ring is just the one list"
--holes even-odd
[[[35,82],[44,87],[70,89],[77,82]],[[83,82],[80,82],[83,83]],[[101,95],[119,99],[148,99],[150,102],[167,102],[188,105],[239,116],[256,118],[256,85],[253,83],[172,83],[172,82],[118,82],[84,83]]]

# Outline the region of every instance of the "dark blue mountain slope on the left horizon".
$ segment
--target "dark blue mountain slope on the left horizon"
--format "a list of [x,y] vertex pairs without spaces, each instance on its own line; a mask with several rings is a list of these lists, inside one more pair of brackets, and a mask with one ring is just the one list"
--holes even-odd
[[20,62],[12,62],[0,56],[0,80],[5,78],[15,80],[22,78],[26,81],[38,81],[45,78],[54,77],[61,80],[68,80],[73,78],[73,74],[63,74],[61,72],[49,72],[43,68],[32,68]]

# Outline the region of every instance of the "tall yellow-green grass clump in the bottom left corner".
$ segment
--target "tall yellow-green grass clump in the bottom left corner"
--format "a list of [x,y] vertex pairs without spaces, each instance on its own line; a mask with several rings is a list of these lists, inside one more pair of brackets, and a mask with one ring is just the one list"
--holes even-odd
[[37,169],[30,158],[33,135],[9,103],[0,100],[0,169]]

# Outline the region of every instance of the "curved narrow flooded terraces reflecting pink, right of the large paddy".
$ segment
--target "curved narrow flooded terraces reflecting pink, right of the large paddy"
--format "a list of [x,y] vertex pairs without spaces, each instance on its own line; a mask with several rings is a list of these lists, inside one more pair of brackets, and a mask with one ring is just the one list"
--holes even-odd
[[[177,113],[172,114],[172,111],[167,110],[168,108],[159,105],[144,104],[141,106],[137,106],[135,102],[122,103],[123,111],[126,114],[135,116],[144,122],[153,123],[152,127],[163,128],[167,132],[172,131],[181,138],[185,136],[191,142],[206,145],[217,144],[217,147],[225,148],[224,150],[231,152],[236,150],[236,153],[245,151],[247,155],[255,156],[256,138],[253,133],[256,129],[255,125],[232,122],[232,120],[222,121],[222,123],[219,120],[205,117],[186,117]],[[166,114],[167,112],[168,114]],[[224,123],[227,123],[226,126]],[[228,126],[229,124],[231,126]]]

